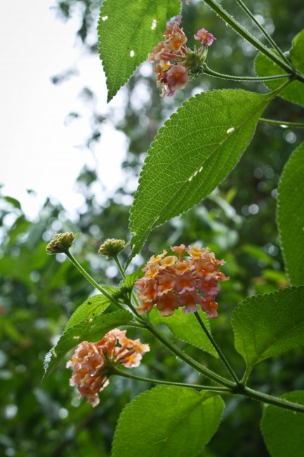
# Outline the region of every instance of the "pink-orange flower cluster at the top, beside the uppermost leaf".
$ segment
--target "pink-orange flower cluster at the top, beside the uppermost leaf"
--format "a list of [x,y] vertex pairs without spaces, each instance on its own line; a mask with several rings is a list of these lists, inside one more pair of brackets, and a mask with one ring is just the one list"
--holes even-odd
[[[180,28],[182,16],[178,16],[176,21],[170,22],[163,34],[164,41],[152,49],[148,54],[151,63],[157,63],[154,72],[157,73],[157,86],[163,86],[161,96],[168,91],[168,96],[173,96],[178,89],[184,89],[187,82],[194,76],[193,64],[197,69],[201,69],[201,63],[206,58],[206,53],[202,51],[206,46],[210,46],[216,39],[207,30],[201,29],[194,35],[195,39],[201,41],[201,46],[195,51],[191,51],[185,46],[187,37]],[[195,70],[196,73],[199,70]]]

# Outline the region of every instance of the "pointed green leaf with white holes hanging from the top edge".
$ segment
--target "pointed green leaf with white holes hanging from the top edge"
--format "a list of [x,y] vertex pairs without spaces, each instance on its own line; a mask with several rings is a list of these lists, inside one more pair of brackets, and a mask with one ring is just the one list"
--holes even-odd
[[166,22],[180,13],[180,0],[106,0],[100,9],[98,51],[107,77],[107,101],[147,60]]

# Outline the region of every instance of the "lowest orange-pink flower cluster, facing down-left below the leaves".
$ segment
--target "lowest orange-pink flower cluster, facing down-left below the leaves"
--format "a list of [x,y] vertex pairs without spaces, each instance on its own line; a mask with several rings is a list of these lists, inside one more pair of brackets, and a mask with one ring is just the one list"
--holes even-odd
[[118,328],[106,333],[97,343],[83,341],[67,362],[67,368],[74,368],[70,385],[77,385],[79,398],[87,397],[88,403],[95,407],[99,403],[98,392],[109,384],[111,366],[119,363],[126,368],[139,366],[143,354],[148,351],[149,345],[130,340],[126,330]]

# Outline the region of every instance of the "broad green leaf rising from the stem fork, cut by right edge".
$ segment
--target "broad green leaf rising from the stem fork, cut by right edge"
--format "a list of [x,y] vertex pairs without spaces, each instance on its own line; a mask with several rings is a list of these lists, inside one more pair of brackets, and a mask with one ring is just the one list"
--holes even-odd
[[232,313],[234,345],[249,369],[304,345],[304,287],[249,297]]

